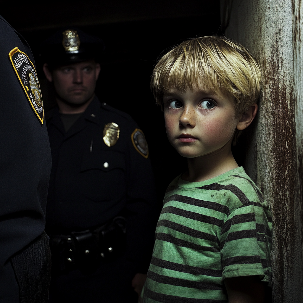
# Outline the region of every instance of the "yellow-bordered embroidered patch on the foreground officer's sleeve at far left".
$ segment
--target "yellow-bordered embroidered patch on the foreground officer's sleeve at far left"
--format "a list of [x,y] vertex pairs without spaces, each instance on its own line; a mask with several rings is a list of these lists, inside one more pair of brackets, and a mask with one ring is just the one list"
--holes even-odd
[[28,56],[21,52],[18,47],[12,49],[8,54],[15,73],[20,81],[20,84],[28,98],[35,115],[39,122],[43,124],[44,110],[42,103],[42,95],[37,77],[37,72]]

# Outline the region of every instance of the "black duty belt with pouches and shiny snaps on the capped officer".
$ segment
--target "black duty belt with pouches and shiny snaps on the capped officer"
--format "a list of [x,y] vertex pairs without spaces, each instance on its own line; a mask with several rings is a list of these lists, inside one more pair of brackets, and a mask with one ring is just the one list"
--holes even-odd
[[83,273],[92,273],[101,260],[113,260],[126,250],[126,219],[118,216],[92,230],[50,235],[49,243],[53,271],[79,268]]

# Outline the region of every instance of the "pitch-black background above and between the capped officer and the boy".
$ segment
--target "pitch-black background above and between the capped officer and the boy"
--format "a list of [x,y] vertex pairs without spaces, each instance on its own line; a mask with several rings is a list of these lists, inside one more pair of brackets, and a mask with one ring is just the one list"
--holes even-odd
[[[32,48],[45,110],[54,105],[54,98],[39,60],[41,42],[71,26],[103,39],[106,49],[96,94],[131,115],[145,133],[160,207],[167,186],[187,163],[167,140],[163,113],[149,88],[151,72],[159,55],[173,45],[222,33],[219,0],[52,1],[31,8],[28,3],[7,4],[1,15]],[[238,162],[241,165],[242,159]]]

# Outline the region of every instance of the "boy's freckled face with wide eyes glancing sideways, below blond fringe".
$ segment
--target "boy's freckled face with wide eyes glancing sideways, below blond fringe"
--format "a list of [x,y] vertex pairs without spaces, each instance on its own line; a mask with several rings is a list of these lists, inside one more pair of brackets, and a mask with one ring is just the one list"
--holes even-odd
[[196,158],[231,148],[239,122],[231,97],[200,85],[183,92],[171,89],[163,101],[168,140],[181,156]]

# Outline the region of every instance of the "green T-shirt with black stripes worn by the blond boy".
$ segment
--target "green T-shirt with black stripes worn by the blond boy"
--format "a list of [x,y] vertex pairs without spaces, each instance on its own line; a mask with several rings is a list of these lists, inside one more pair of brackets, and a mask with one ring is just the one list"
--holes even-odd
[[259,275],[271,286],[270,206],[242,167],[168,186],[143,302],[227,302],[223,279]]

